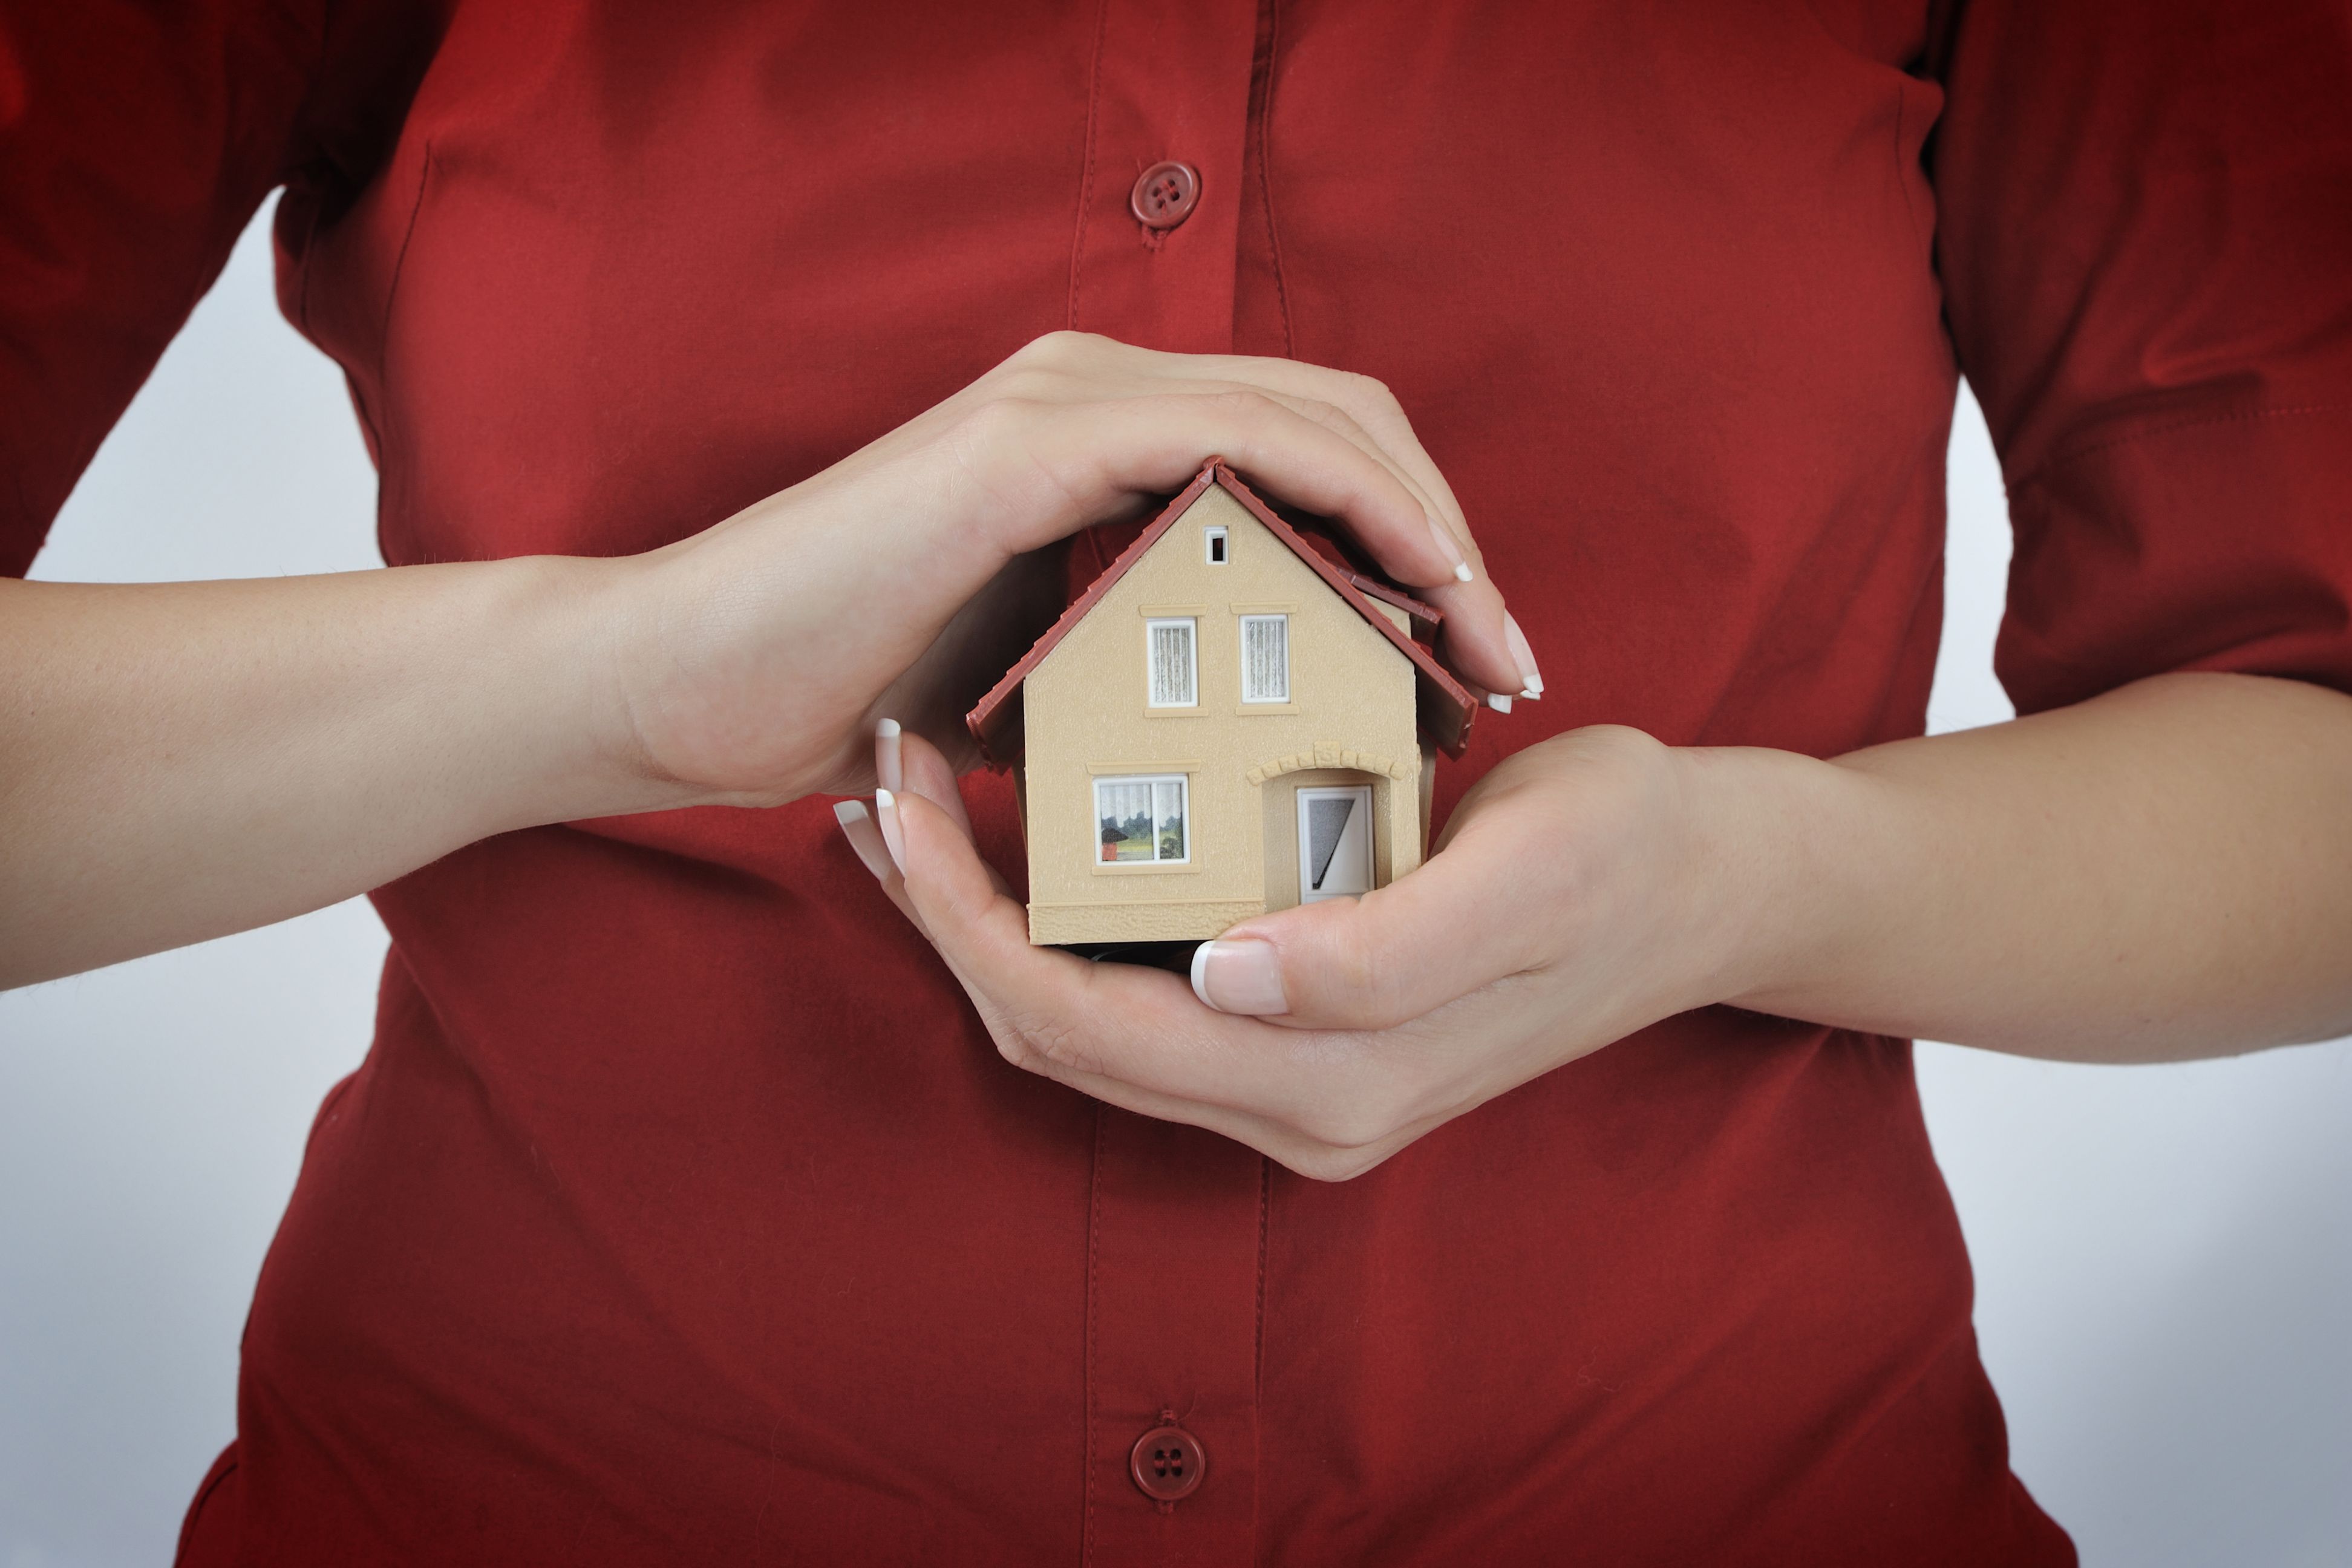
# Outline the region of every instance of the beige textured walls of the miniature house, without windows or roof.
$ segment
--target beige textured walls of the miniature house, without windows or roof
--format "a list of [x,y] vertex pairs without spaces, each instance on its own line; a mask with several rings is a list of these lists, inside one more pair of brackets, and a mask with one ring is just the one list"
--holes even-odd
[[[1204,529],[1228,529],[1211,567]],[[1402,611],[1390,611],[1402,628]],[[1291,618],[1291,701],[1242,703],[1244,614]],[[1150,708],[1145,623],[1188,616],[1195,708]],[[1223,489],[1209,487],[1023,684],[1033,943],[1209,938],[1265,912],[1268,823],[1298,783],[1374,780],[1376,879],[1421,863],[1414,665]],[[1103,865],[1094,778],[1185,773],[1190,860]],[[1268,799],[1268,795],[1277,799]]]

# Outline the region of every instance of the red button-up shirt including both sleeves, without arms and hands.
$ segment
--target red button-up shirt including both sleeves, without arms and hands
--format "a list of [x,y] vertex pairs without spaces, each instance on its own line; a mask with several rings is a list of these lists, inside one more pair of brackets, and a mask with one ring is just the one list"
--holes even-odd
[[[1352,367],[1552,677],[1444,811],[1919,733],[1966,369],[2020,708],[2343,686],[2347,101],[2319,0],[7,0],[0,569],[285,181],[390,562],[661,545],[1054,327]],[[191,1563],[2072,1556],[1905,1041],[1708,1009],[1317,1185],[1004,1065],[818,799],[376,905]]]

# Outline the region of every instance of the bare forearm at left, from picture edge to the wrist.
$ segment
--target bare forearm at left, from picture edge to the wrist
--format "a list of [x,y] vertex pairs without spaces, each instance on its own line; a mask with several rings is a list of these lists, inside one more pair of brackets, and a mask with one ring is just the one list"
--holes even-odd
[[600,672],[616,562],[0,583],[0,985],[675,804]]

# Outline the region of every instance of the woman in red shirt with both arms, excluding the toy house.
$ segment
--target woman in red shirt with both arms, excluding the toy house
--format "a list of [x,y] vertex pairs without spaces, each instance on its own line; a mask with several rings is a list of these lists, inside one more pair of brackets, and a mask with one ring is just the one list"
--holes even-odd
[[[2340,12],[21,9],[0,564],[287,181],[395,567],[0,597],[7,980],[393,931],[183,1561],[2070,1561],[1903,1037],[2352,1027]],[[1211,451],[1541,703],[1195,997],[873,736]]]

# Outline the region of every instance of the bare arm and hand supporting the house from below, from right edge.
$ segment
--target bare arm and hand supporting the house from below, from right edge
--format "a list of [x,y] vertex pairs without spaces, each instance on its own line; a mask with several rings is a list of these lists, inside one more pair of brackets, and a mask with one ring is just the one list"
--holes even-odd
[[1322,1180],[1715,1001],[2105,1063],[2352,1032],[2352,698],[2300,682],[2169,675],[1832,762],[1569,731],[1418,872],[1228,931],[1279,966],[1263,1018],[1030,947],[946,762],[898,750],[884,891],[1007,1060]]

